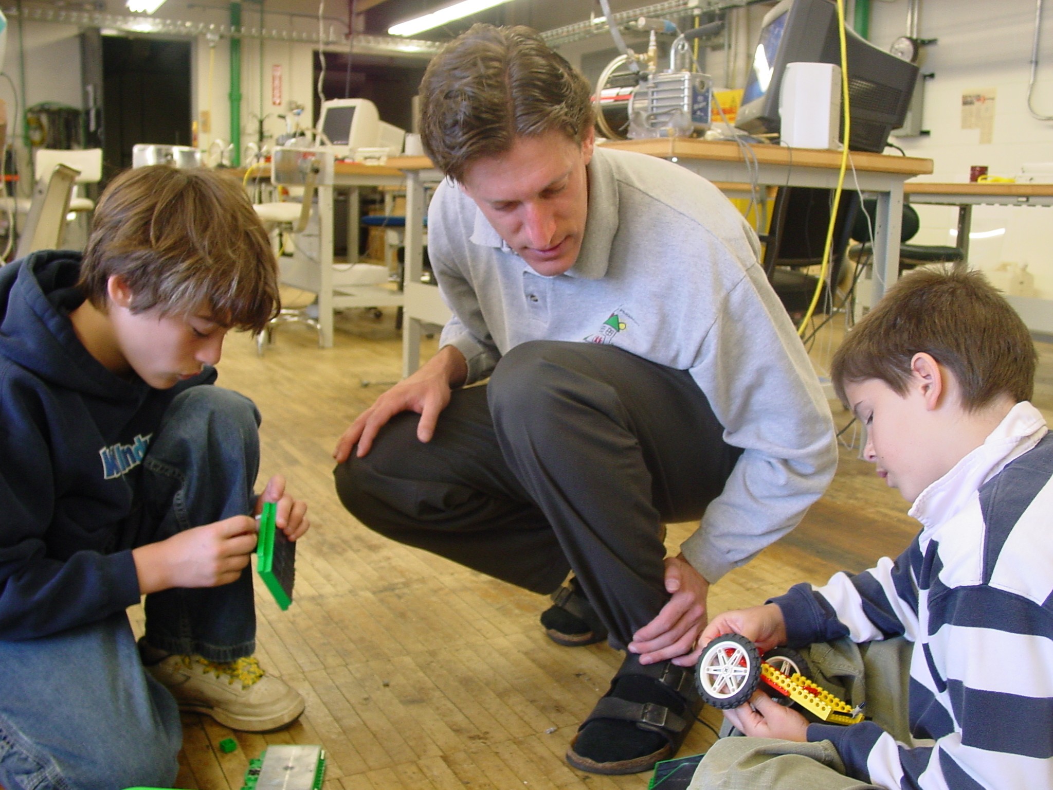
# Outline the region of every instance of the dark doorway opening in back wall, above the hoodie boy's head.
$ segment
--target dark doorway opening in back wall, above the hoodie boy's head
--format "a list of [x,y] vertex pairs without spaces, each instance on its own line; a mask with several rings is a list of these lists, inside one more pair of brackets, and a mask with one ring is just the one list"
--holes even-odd
[[103,181],[140,142],[192,145],[191,42],[102,39]]

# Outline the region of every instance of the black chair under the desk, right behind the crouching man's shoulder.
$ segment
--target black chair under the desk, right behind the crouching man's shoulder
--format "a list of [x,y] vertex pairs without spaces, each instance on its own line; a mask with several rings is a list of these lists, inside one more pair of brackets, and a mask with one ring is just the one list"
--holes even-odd
[[[762,239],[767,241],[764,273],[791,316],[806,313],[815,295],[819,278],[799,270],[822,263],[832,200],[833,190],[811,186],[782,186],[775,196],[771,226]],[[816,304],[817,313],[834,309],[836,288],[832,289],[830,283],[836,284],[840,277],[858,209],[858,193],[842,192],[834,223],[831,264]]]

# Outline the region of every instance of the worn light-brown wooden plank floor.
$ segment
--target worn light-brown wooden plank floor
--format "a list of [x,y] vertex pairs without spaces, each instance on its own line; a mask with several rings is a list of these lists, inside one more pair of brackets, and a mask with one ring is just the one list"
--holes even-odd
[[[177,787],[237,790],[250,757],[285,743],[324,747],[327,790],[647,787],[648,774],[597,776],[562,758],[618,653],[553,644],[537,621],[545,598],[389,541],[341,507],[336,439],[398,377],[401,352],[391,316],[342,317],[338,329],[335,348],[321,351],[306,328],[283,327],[262,358],[246,335],[226,341],[220,383],[263,414],[260,486],[280,472],[311,503],[295,604],[281,612],[257,586],[258,654],[307,708],[292,728],[265,735],[184,715]],[[1053,347],[1041,352],[1036,402],[1048,408]],[[839,407],[835,417],[849,421]],[[915,527],[906,502],[856,456],[841,450],[832,488],[797,530],[714,586],[713,612],[862,570],[909,542]],[[694,528],[671,525],[670,550]],[[138,608],[133,620],[141,629]],[[719,722],[712,710],[704,717]],[[219,742],[232,735],[239,748],[221,753]],[[704,751],[712,739],[695,727],[680,753]]]

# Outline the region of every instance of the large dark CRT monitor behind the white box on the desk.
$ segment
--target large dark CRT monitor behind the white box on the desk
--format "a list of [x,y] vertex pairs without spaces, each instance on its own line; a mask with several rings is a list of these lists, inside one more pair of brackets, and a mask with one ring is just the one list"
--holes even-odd
[[[778,133],[787,63],[840,65],[837,26],[837,7],[830,0],[781,0],[766,14],[735,125],[750,134]],[[851,28],[845,35],[852,111],[849,147],[880,153],[889,133],[903,123],[918,68]]]

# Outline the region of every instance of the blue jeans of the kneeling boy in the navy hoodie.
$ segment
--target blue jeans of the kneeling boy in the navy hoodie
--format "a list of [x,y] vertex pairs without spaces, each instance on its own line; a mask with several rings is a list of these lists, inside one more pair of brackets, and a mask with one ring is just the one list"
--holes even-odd
[[[259,413],[217,387],[180,393],[143,460],[142,517],[125,548],[250,514]],[[146,596],[146,639],[231,660],[255,650],[253,578]],[[127,616],[0,640],[0,785],[6,790],[171,787],[182,746],[172,695],[142,667]]]

